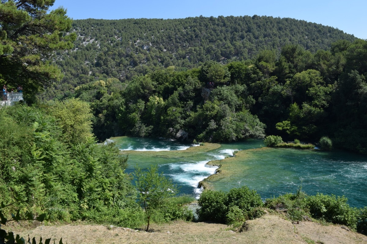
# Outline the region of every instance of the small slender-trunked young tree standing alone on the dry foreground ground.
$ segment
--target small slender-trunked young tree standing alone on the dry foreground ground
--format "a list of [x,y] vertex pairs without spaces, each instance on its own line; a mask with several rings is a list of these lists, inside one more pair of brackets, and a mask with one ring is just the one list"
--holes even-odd
[[151,166],[148,171],[142,171],[141,168],[135,167],[134,176],[138,190],[138,203],[145,210],[148,221],[145,231],[148,231],[150,217],[164,206],[164,199],[176,194],[177,188],[163,173],[158,173],[156,165]]

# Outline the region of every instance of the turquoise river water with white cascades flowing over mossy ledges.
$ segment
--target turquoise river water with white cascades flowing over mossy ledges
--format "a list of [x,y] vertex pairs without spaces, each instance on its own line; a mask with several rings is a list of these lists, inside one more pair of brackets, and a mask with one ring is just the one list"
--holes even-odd
[[[120,150],[137,150],[128,154],[127,173],[134,166],[148,168],[159,165],[159,170],[180,187],[181,193],[199,196],[199,181],[215,173],[216,167],[207,166],[211,160],[233,157],[245,150],[246,157],[230,166],[228,177],[215,179],[210,184],[217,190],[228,191],[247,185],[262,199],[295,193],[300,185],[308,195],[317,192],[346,196],[353,207],[367,206],[367,157],[344,151],[322,152],[296,149],[264,149],[262,140],[221,144],[218,149],[190,153],[185,149],[192,144],[173,140],[145,138],[113,138]],[[181,153],[177,153],[180,150]],[[154,154],[149,154],[154,152]],[[160,154],[161,152],[161,154]],[[176,152],[176,153],[175,153]]]

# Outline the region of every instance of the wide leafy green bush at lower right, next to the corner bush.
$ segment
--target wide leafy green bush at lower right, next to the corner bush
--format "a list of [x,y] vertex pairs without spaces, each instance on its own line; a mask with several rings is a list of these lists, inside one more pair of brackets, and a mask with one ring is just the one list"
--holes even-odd
[[316,196],[306,198],[306,207],[314,218],[356,229],[357,211],[346,203],[347,200],[344,196],[318,193]]

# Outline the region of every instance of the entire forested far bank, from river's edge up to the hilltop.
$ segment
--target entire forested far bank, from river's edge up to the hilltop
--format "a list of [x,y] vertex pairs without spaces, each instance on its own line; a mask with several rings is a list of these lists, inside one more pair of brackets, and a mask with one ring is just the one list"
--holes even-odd
[[73,29],[75,48],[55,60],[65,76],[41,97],[88,101],[101,141],[328,136],[366,153],[366,41],[341,30],[266,16],[87,19]]

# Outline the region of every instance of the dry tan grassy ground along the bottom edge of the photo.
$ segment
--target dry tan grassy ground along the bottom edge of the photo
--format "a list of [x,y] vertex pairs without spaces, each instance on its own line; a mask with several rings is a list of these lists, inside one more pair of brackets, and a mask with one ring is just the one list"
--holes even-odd
[[[235,233],[228,226],[206,222],[192,223],[175,221],[170,224],[152,224],[149,232],[115,226],[88,225],[83,223],[24,227],[21,224],[7,226],[25,240],[28,235],[39,241],[52,238],[55,243],[62,237],[63,243],[136,243],[136,244],[366,244],[367,236],[340,225],[321,225],[316,222],[302,221],[292,223],[277,214],[266,214],[261,218],[247,221],[247,232]],[[53,241],[51,241],[53,243]]]

